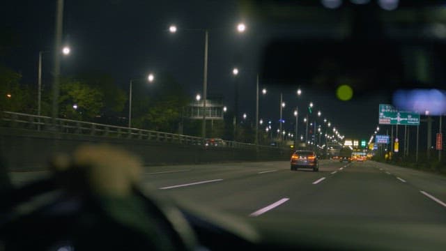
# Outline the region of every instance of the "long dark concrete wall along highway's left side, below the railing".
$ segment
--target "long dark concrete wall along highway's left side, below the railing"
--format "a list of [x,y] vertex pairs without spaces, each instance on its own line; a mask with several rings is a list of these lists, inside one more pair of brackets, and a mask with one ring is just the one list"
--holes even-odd
[[39,132],[0,128],[0,154],[10,171],[45,169],[54,153],[70,153],[81,144],[106,143],[122,147],[144,161],[144,165],[198,164],[209,162],[289,160],[291,151],[284,149],[231,149],[175,143]]

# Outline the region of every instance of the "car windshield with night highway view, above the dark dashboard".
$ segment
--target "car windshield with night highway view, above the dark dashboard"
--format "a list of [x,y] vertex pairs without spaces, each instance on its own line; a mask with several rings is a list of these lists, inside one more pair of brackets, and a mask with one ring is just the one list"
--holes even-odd
[[5,194],[109,144],[141,189],[282,244],[443,241],[445,1],[6,2]]

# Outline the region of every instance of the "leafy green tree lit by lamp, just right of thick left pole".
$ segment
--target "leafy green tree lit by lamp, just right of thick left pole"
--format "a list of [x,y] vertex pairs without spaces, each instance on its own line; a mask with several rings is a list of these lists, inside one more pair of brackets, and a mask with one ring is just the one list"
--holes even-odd
[[91,120],[104,107],[104,94],[97,87],[71,78],[61,79],[59,114],[67,119]]

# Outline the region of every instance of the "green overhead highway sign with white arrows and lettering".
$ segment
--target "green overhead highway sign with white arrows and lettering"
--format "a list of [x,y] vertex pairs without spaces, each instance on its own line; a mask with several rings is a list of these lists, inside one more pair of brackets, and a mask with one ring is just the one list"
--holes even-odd
[[380,125],[420,126],[420,114],[400,112],[392,105],[379,105]]

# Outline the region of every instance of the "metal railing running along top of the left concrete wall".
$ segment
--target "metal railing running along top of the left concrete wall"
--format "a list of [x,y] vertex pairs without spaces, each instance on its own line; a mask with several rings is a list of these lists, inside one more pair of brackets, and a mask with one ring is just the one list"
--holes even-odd
[[[188,145],[203,144],[201,137],[75,121],[70,119],[53,119],[49,116],[38,116],[18,112],[2,111],[0,113],[0,126],[8,128],[22,128],[27,130],[39,130],[43,132],[62,132],[76,135],[142,139],[153,142],[170,142]],[[209,147],[230,147],[233,149],[256,149],[257,147],[258,149],[277,149],[277,147],[274,146],[256,146],[255,144],[246,144],[233,141],[223,142],[224,144],[220,146]]]

